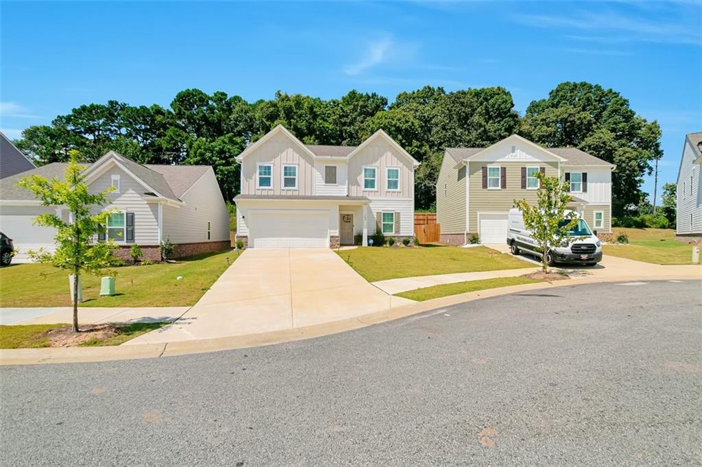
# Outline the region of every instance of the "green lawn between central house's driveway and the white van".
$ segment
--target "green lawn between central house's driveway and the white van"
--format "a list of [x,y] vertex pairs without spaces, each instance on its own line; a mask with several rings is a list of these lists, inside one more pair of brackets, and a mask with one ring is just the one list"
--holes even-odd
[[427,245],[420,248],[362,246],[338,251],[367,281],[398,277],[450,274],[451,272],[491,271],[529,268],[529,264],[485,246]]

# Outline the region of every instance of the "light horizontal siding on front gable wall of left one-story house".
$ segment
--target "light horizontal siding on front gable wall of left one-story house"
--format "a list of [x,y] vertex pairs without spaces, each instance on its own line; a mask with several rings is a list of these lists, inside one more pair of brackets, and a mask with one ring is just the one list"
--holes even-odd
[[[112,186],[112,176],[119,175],[119,193],[110,192],[107,197],[112,204],[103,206],[104,209],[119,209],[134,213],[134,242],[142,245],[159,244],[158,206],[147,203],[143,194],[147,188],[134,180],[128,173],[117,166],[112,166],[95,178],[90,184],[90,191],[102,192]],[[125,242],[116,242],[123,244]]]

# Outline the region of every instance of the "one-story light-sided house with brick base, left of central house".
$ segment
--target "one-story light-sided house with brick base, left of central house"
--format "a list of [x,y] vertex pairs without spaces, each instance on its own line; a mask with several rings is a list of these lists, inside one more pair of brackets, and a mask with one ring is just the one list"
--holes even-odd
[[[54,162],[0,180],[0,230],[14,240],[18,258],[28,250],[53,249],[53,228],[33,225],[39,213],[55,213],[69,220],[65,206],[42,206],[17,183],[23,176],[62,179],[66,163]],[[230,248],[229,213],[210,166],[142,165],[108,152],[84,172],[91,192],[108,187],[117,209],[107,223],[107,237],[128,257],[132,244],[141,246],[144,258],[161,259],[161,241],[176,244],[174,256],[188,256]]]

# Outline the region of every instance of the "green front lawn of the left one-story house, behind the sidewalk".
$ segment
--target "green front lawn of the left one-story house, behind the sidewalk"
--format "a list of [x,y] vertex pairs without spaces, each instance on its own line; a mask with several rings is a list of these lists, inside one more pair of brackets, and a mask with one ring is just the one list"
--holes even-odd
[[[114,268],[116,296],[101,297],[100,277],[83,276],[84,303],[81,306],[193,305],[237,256],[237,251],[223,251],[182,258],[177,263]],[[178,276],[183,278],[178,280]],[[2,268],[0,305],[70,306],[68,273],[43,264]]]

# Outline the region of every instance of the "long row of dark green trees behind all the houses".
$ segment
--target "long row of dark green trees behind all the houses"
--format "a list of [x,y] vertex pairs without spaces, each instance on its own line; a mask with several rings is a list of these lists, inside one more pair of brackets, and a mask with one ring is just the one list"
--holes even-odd
[[350,91],[323,100],[278,91],[271,100],[186,89],[170,107],[110,100],[30,126],[16,145],[38,164],[66,162],[78,150],[93,162],[115,150],[142,164],[204,164],[216,173],[225,199],[239,192],[239,164],[247,144],[277,124],[307,144],[358,145],[383,129],[422,164],[416,171],[416,207],[432,209],[446,147],[486,147],[513,133],[545,146],[573,146],[616,164],[614,216],[637,213],[645,202],[644,175],[661,158],[661,128],[631,109],[621,93],[587,82],[559,84],[534,100],[524,115],[502,87],[446,92],[424,86],[390,103],[377,93]]

